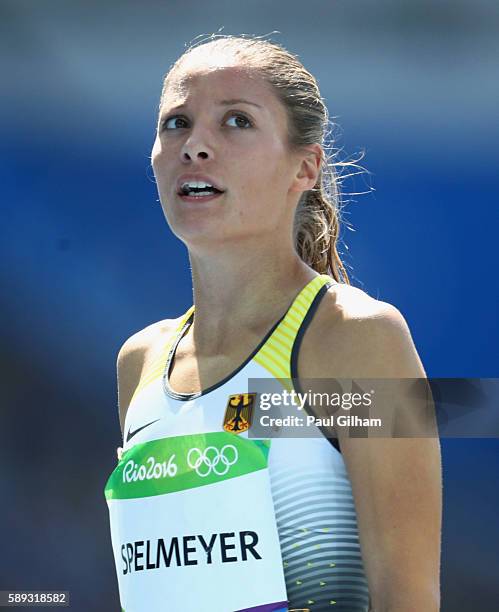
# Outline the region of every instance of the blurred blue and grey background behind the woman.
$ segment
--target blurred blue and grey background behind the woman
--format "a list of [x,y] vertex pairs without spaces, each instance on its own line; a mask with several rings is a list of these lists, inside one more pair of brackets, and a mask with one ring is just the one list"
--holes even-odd
[[[365,152],[342,246],[433,377],[497,377],[499,4],[1,0],[0,589],[118,610],[105,481],[117,352],[191,304],[150,150],[162,77],[199,34],[297,53]],[[442,610],[499,609],[497,439],[442,440]]]

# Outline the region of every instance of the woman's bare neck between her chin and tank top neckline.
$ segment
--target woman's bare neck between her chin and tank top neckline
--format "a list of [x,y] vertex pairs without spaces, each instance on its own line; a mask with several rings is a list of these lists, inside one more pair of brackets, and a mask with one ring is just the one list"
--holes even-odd
[[189,334],[198,355],[220,352],[244,332],[265,333],[317,276],[294,249],[279,252],[275,244],[230,255],[189,251],[189,259],[195,305]]

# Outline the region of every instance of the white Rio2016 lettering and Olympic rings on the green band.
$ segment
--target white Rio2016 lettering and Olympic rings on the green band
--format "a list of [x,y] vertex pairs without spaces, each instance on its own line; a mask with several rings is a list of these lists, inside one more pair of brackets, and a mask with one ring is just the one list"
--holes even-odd
[[[204,450],[191,448],[187,453],[187,465],[201,478],[206,478],[212,472],[217,476],[225,476],[238,458],[237,448],[232,444],[226,444],[221,449],[215,446],[207,446]],[[177,472],[175,454],[168,461],[156,461],[154,457],[148,457],[142,464],[130,459],[123,468],[123,482],[173,478]]]

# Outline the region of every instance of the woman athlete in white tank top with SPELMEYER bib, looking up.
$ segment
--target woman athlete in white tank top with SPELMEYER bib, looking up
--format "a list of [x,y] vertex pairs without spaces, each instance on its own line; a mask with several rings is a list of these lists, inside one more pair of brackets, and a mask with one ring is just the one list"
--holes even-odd
[[438,439],[248,435],[250,378],[425,377],[400,312],[349,285],[327,127],[265,40],[213,37],[165,78],[152,165],[194,305],[118,355],[126,612],[439,609]]

